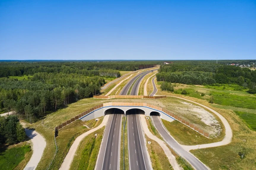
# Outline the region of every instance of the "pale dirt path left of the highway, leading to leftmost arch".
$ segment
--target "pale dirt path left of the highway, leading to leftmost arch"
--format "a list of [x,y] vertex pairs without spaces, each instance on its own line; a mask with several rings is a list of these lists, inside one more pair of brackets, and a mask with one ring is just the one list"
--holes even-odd
[[101,122],[101,124],[100,124],[98,127],[93,128],[93,129],[91,129],[91,130],[89,130],[89,131],[83,133],[82,135],[78,136],[78,137],[75,139],[75,141],[74,141],[74,143],[71,145],[71,147],[70,147],[70,149],[69,149],[69,152],[68,152],[68,154],[66,155],[66,157],[65,157],[65,159],[64,159],[64,161],[63,161],[63,163],[61,164],[61,167],[60,167],[59,170],[69,170],[70,165],[71,165],[71,163],[72,163],[72,161],[73,161],[73,158],[74,158],[74,156],[75,156],[75,153],[76,153],[76,151],[77,151],[77,148],[78,148],[80,142],[83,140],[83,138],[85,138],[85,137],[86,137],[87,135],[89,135],[90,133],[93,133],[93,132],[95,132],[96,130],[98,130],[98,129],[104,127],[104,126],[106,125],[107,121],[108,121],[108,118],[109,118],[109,115],[104,116],[103,121]]

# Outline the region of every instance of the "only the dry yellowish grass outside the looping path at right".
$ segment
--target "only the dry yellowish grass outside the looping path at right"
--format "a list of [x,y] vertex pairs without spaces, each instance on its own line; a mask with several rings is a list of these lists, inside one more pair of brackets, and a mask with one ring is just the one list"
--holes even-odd
[[[160,85],[157,85],[160,87]],[[188,86],[188,85],[187,85]],[[183,86],[184,87],[184,86]],[[190,87],[191,88],[191,87]],[[159,90],[160,88],[158,88]],[[203,90],[208,90],[207,88],[198,88]],[[193,89],[196,91],[195,89]],[[216,89],[214,89],[216,90]],[[224,89],[225,90],[225,89]],[[206,149],[199,149],[199,150],[192,150],[193,153],[197,158],[199,158],[203,163],[209,166],[213,170],[217,169],[256,169],[256,143],[255,143],[255,136],[256,132],[252,131],[248,128],[247,123],[243,121],[237,114],[234,113],[233,108],[234,106],[223,106],[217,104],[210,104],[208,101],[201,97],[191,97],[189,95],[179,95],[175,93],[168,93],[163,92],[161,90],[158,93],[162,94],[169,94],[174,96],[179,96],[183,98],[187,98],[189,100],[193,100],[195,102],[201,103],[205,106],[208,106],[215,111],[222,114],[225,119],[228,120],[231,129],[233,130],[233,139],[230,144],[214,147],[214,148],[206,148]],[[219,92],[220,93],[220,92]],[[223,93],[223,92],[222,92]],[[231,93],[235,93],[236,95],[250,95],[246,92],[241,91],[231,91]],[[255,95],[250,95],[254,98]],[[224,98],[220,98],[221,100],[225,100]],[[251,101],[252,99],[245,99],[245,102],[250,103],[250,107],[253,108],[255,104]],[[239,106],[239,101],[234,100],[236,106]],[[230,110],[231,109],[231,110]],[[255,109],[247,109],[237,107],[238,110],[249,110],[250,113],[253,112]],[[243,158],[241,158],[241,153],[246,153]],[[213,158],[214,159],[210,159]]]

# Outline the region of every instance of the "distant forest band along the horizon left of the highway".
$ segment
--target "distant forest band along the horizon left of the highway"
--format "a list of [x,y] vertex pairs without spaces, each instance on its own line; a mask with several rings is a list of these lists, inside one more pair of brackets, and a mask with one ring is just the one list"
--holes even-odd
[[[112,61],[112,62],[0,62],[0,77],[46,73],[75,73],[84,76],[101,74],[119,77],[119,71],[135,71],[160,64],[162,61]],[[115,76],[116,75],[116,76]]]

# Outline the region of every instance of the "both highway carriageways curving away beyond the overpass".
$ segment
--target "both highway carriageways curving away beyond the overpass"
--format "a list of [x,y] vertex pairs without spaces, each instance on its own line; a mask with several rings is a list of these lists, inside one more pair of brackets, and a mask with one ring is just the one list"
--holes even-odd
[[[157,69],[154,69],[153,71],[155,71],[155,70],[157,70]],[[121,91],[121,93],[120,93],[120,95],[129,95],[129,94],[127,94],[128,93],[128,91],[129,91],[129,89],[130,89],[130,87],[132,86],[132,84],[133,84],[133,82],[138,78],[138,77],[140,77],[141,79],[145,76],[145,75],[147,75],[148,73],[150,73],[151,72],[151,70],[150,71],[146,71],[146,72],[142,72],[142,73],[139,73],[138,75],[136,75],[135,77],[133,77],[124,87],[123,87],[123,89],[122,89],[122,91]],[[139,79],[140,79],[139,78]],[[138,79],[138,80],[139,80]],[[141,81],[141,79],[140,79],[140,81]],[[133,88],[132,88],[132,90],[131,90],[131,95],[137,95],[138,94],[138,89],[139,89],[139,83],[140,83],[140,81],[136,81],[135,83],[134,83],[134,85],[133,85]],[[136,87],[135,87],[136,86]],[[135,88],[134,88],[135,87]],[[137,94],[136,94],[137,93]]]

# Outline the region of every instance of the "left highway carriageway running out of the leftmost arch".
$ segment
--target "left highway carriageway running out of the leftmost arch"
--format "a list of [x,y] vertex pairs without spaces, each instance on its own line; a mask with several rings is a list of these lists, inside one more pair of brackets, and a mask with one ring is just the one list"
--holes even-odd
[[[120,135],[123,111],[109,109],[111,112],[101,145],[100,156],[96,170],[119,169],[120,164]],[[106,113],[109,114],[109,113]]]

